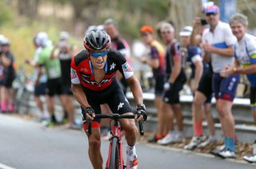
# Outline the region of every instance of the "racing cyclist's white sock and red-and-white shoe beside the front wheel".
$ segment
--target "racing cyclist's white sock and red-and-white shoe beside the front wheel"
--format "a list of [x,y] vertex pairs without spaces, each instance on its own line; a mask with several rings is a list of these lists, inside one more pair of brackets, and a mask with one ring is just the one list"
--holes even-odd
[[126,169],[137,169],[138,157],[136,155],[135,147],[126,147]]

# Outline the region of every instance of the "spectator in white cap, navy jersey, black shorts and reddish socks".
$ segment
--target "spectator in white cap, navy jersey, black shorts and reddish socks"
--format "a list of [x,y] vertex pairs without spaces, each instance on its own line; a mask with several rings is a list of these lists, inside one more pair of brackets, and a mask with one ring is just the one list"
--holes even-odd
[[[198,21],[200,20],[195,19],[194,28],[186,26],[180,32],[182,45],[187,47],[187,62],[192,69],[190,88],[194,95],[192,104],[194,136],[190,143],[184,147],[187,150],[193,150],[195,147],[205,147],[216,140],[214,136],[214,119],[210,113],[212,69],[210,65],[202,60],[202,49],[199,46],[201,35],[195,33],[199,26],[201,26],[201,23]],[[206,116],[210,131],[210,137],[207,140],[203,136],[202,120],[204,115]]]

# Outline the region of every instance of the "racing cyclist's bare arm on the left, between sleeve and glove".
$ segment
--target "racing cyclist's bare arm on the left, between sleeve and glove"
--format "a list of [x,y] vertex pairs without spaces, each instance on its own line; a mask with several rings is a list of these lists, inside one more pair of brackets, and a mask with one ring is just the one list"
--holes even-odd
[[80,84],[71,84],[71,88],[73,91],[74,98],[78,101],[78,103],[82,106],[82,108],[90,107],[88,104],[86,94],[83,92]]

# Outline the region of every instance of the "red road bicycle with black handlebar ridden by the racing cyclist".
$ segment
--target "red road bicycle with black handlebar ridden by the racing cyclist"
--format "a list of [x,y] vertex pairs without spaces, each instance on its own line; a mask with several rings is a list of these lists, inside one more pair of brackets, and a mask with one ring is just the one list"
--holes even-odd
[[[119,114],[111,114],[111,115],[102,115],[96,114],[96,119],[110,119],[110,128],[111,128],[111,136],[110,136],[110,146],[108,158],[106,161],[105,169],[123,169],[126,168],[124,165],[124,160],[122,156],[122,136],[121,136],[121,119],[134,119],[134,115],[119,115]],[[114,124],[111,121],[114,120]],[[144,135],[143,124],[141,121],[138,122],[140,134]],[[86,132],[91,134],[91,123],[89,120],[86,122]]]

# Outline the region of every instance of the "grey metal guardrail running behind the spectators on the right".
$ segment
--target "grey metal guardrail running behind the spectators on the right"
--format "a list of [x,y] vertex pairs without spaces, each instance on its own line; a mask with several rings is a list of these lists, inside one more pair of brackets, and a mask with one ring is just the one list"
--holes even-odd
[[[130,104],[134,106],[134,97],[131,92],[126,94]],[[146,104],[146,112],[149,115],[145,123],[145,131],[154,132],[157,124],[156,108],[154,106],[154,93],[143,93],[144,103]],[[180,101],[182,104],[182,114],[184,116],[185,135],[192,136],[192,104],[193,96],[182,95]],[[254,125],[253,116],[250,110],[250,100],[244,98],[235,98],[232,112],[235,120],[235,130],[238,135],[238,140],[246,143],[251,143],[255,140],[256,126]],[[218,139],[222,136],[221,124],[218,119],[218,112],[215,108],[215,99],[212,100],[211,113],[214,117],[216,136]],[[208,132],[206,122],[203,122],[204,132]]]

